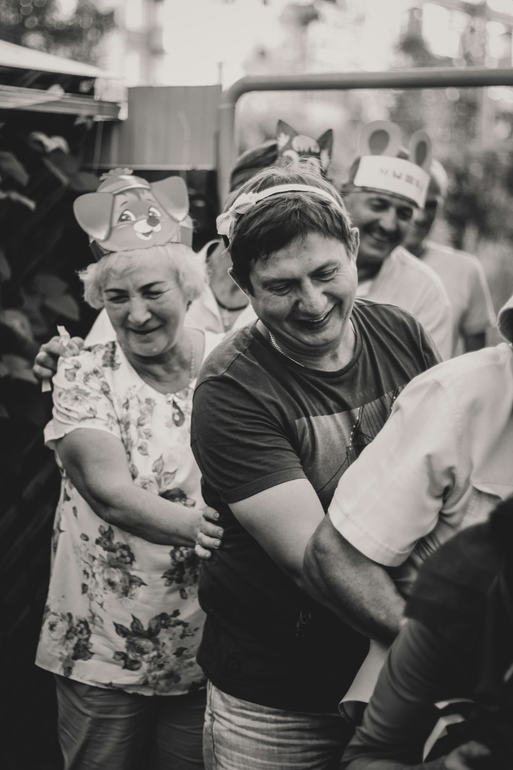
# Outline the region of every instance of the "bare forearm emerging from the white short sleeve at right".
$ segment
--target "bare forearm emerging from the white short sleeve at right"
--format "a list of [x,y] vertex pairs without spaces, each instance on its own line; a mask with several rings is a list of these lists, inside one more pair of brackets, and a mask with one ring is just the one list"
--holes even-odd
[[348,543],[328,516],[308,543],[304,570],[305,590],[357,631],[385,644],[395,639],[404,599],[385,568]]

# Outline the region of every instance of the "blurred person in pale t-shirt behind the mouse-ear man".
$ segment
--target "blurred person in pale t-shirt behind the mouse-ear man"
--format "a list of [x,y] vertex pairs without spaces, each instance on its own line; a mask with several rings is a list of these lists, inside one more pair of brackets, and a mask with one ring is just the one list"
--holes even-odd
[[415,209],[403,246],[440,276],[452,306],[452,356],[479,350],[495,326],[495,312],[481,263],[475,256],[428,240],[448,192],[448,177],[438,160],[431,162],[424,209]]

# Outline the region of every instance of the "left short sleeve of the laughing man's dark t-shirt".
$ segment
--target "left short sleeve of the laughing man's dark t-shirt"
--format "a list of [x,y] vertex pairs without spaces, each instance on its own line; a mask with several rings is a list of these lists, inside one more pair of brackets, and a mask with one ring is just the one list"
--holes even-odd
[[280,423],[280,408],[277,397],[265,393],[265,381],[259,381],[258,371],[251,388],[234,377],[212,378],[197,387],[192,451],[207,497],[208,489],[214,488],[230,504],[285,481],[305,478]]

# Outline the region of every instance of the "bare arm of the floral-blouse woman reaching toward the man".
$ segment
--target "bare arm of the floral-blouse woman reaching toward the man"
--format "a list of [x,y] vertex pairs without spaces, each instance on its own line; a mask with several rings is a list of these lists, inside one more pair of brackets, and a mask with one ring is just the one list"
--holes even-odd
[[152,543],[194,547],[201,511],[134,484],[117,437],[78,428],[58,440],[57,452],[78,493],[108,524]]

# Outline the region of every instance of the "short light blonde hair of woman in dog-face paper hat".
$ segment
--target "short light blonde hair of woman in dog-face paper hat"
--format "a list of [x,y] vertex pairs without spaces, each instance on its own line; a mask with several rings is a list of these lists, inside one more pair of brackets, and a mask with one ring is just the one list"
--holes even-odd
[[[153,252],[161,252],[169,259],[169,264],[175,270],[176,280],[185,300],[192,302],[205,290],[205,263],[189,246],[183,243],[165,243],[164,246],[152,246]],[[78,277],[84,286],[84,300],[91,307],[99,310],[104,306],[102,287],[105,276],[112,269],[122,269],[130,272],[135,267],[148,260],[150,249],[132,249],[102,256],[98,262],[93,262]]]

